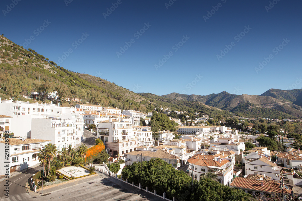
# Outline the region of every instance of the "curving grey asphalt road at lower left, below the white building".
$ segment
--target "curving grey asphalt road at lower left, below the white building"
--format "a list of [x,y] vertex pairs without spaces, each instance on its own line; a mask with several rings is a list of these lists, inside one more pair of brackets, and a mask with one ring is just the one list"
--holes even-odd
[[[21,174],[18,174],[12,178],[9,178],[9,195],[10,196],[16,196],[20,195],[21,193],[27,193],[25,183],[28,181],[28,179],[35,173],[37,170],[42,169],[42,167],[37,166],[35,168],[32,168],[30,170],[27,170]],[[6,197],[4,194],[6,193],[4,190],[4,184],[5,181],[0,182],[0,197]],[[17,199],[18,200],[18,199]]]

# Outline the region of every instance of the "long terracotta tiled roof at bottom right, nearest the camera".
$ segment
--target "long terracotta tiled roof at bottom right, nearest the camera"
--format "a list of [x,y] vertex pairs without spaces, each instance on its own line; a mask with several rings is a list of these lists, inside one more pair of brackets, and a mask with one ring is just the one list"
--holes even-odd
[[[261,183],[263,182],[263,186]],[[241,189],[250,189],[257,190],[262,192],[269,193],[282,193],[282,190],[279,188],[280,184],[277,182],[269,182],[265,180],[257,179],[248,179],[243,177],[236,177],[230,186],[241,188]],[[284,193],[291,193],[291,190],[284,188]]]

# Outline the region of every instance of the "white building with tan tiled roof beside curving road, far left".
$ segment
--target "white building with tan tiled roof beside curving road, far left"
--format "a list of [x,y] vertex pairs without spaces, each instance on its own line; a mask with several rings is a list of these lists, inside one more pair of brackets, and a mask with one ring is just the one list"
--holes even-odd
[[[8,149],[9,159],[5,160],[4,156],[0,158],[0,174],[5,175],[14,171],[21,171],[33,165],[39,164],[37,153],[39,149],[50,143],[50,140],[37,140],[25,138],[9,138],[9,145],[5,145],[5,139],[0,138],[0,149]],[[8,162],[8,163],[7,163]]]

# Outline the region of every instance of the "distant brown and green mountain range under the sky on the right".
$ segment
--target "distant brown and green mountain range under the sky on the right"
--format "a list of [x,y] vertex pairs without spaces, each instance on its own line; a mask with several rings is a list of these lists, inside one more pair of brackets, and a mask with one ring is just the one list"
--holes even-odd
[[162,97],[178,101],[197,101],[246,117],[262,116],[272,118],[272,116],[276,117],[278,115],[284,118],[284,113],[286,113],[291,115],[291,118],[302,118],[302,89],[270,89],[260,96],[247,94],[235,95],[223,91],[206,96],[170,93]]

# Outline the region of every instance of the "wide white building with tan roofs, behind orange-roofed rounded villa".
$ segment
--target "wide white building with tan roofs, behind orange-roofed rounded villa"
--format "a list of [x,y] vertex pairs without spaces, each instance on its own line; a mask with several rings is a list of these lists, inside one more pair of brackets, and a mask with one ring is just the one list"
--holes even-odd
[[227,148],[234,151],[236,154],[240,154],[240,149],[245,150],[245,144],[235,143],[233,138],[217,138],[217,141],[210,143],[210,146]]

